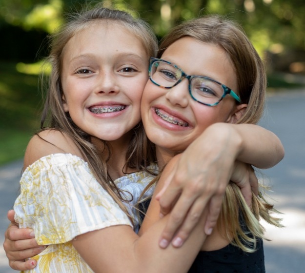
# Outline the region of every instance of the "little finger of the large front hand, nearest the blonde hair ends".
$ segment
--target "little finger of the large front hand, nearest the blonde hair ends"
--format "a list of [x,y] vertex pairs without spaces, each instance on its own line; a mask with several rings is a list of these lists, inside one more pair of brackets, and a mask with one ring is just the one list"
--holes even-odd
[[222,203],[223,203],[222,195],[215,195],[211,198],[208,204],[208,215],[204,225],[204,232],[206,235],[212,234],[221,211]]

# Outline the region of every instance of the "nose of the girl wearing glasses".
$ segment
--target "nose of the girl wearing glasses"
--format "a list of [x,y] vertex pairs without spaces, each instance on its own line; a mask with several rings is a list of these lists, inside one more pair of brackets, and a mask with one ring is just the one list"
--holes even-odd
[[189,102],[188,79],[183,78],[176,86],[168,89],[165,98],[167,98],[172,105],[186,107]]

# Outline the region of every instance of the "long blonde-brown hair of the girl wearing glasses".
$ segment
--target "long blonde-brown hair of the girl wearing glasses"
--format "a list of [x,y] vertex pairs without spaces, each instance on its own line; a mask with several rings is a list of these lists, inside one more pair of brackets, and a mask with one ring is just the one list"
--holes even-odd
[[[157,57],[161,58],[166,48],[183,37],[216,45],[226,52],[237,76],[236,92],[242,103],[248,105],[238,123],[256,124],[264,111],[266,76],[264,63],[242,28],[234,21],[220,15],[207,15],[185,21],[164,37]],[[279,219],[271,216],[271,212],[274,211],[273,206],[261,197],[252,196],[250,210],[236,184],[230,182],[225,191],[218,226],[232,244],[245,252],[254,252],[256,238],[264,238],[264,228],[259,222],[261,217],[272,225],[282,227]],[[246,227],[241,226],[241,219],[244,220]]]

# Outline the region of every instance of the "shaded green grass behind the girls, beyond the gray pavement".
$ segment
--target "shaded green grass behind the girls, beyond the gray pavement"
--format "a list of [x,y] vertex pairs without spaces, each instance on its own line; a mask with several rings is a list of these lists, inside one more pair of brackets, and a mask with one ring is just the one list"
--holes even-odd
[[[0,165],[22,158],[27,142],[39,128],[38,76],[19,73],[16,65],[0,61]],[[31,72],[26,66],[24,70]],[[283,77],[268,77],[269,88],[300,86]]]

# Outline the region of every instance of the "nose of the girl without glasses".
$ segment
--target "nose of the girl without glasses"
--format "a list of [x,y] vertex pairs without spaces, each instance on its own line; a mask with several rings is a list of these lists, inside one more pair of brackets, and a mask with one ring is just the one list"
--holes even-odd
[[98,75],[95,91],[98,94],[107,95],[118,93],[120,91],[120,87],[115,73],[112,71],[107,71]]

